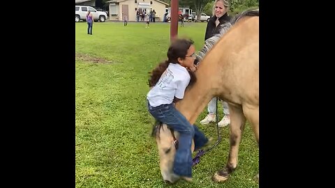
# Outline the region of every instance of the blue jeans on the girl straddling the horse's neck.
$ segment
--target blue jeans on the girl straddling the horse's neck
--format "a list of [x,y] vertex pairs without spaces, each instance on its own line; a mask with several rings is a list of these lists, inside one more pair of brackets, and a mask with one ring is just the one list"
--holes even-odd
[[174,108],[173,104],[161,104],[151,107],[148,102],[148,110],[156,120],[165,123],[173,130],[179,132],[179,148],[174,156],[173,172],[177,175],[192,177],[192,152],[191,145],[194,137],[195,148],[201,148],[208,139],[196,126],[191,123]]

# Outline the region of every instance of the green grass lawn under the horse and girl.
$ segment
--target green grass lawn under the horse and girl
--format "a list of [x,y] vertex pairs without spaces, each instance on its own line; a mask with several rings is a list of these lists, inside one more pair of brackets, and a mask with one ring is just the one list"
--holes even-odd
[[[179,37],[204,44],[206,23],[185,23]],[[228,158],[228,127],[220,128],[221,143],[193,167],[193,182],[167,185],[161,178],[154,119],[145,97],[148,72],[164,61],[170,45],[170,24],[97,22],[87,35],[85,22],[75,23],[75,185],[76,187],[258,187],[258,146],[246,125],[239,147],[239,164],[227,182],[211,176]],[[219,111],[222,112],[220,105]],[[196,124],[217,138],[214,124]],[[220,113],[222,118],[222,113]]]

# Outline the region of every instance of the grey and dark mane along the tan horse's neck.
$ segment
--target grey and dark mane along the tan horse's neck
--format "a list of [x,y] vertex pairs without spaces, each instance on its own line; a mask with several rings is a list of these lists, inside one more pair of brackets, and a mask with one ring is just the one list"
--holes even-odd
[[227,31],[234,25],[236,22],[241,19],[241,17],[244,16],[259,16],[259,9],[249,9],[249,10],[244,10],[242,13],[239,13],[235,17],[232,17],[230,19],[230,22],[226,22],[225,24],[221,24],[221,29],[220,33],[212,36],[211,38],[208,38],[207,40],[204,41],[204,47],[198,52],[197,59],[198,63],[202,61],[202,58],[209,52],[209,50],[218,42],[218,40],[225,34]]

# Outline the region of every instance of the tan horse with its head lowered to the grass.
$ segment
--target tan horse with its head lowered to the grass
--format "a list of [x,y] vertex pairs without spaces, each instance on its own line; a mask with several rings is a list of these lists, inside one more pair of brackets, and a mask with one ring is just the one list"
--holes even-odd
[[[201,61],[195,72],[197,81],[186,89],[176,108],[195,123],[212,97],[228,102],[230,110],[230,150],[228,162],[213,180],[223,182],[237,167],[241,134],[246,120],[251,123],[258,142],[258,10],[246,10],[223,25],[221,33],[205,41],[197,55]],[[161,174],[165,181],[179,179],[172,171],[175,155],[172,132],[166,125],[156,126]],[[178,137],[178,133],[174,132]],[[192,146],[194,147],[194,146]],[[258,175],[256,175],[258,180]]]

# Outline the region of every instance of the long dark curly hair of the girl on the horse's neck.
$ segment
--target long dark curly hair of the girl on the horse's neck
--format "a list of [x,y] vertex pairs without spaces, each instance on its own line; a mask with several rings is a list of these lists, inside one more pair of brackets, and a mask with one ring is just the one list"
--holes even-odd
[[[169,63],[179,63],[178,58],[186,58],[186,54],[188,49],[193,45],[193,40],[191,39],[177,39],[174,40],[169,49],[168,49],[168,60],[163,61],[162,63],[159,63],[154,70],[151,72],[151,76],[148,79],[149,87],[155,86],[157,81],[161,78],[161,75],[163,72],[168,68]],[[188,73],[191,76],[190,84],[193,84],[195,82],[195,75],[193,72],[188,71]]]

